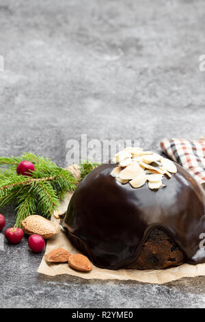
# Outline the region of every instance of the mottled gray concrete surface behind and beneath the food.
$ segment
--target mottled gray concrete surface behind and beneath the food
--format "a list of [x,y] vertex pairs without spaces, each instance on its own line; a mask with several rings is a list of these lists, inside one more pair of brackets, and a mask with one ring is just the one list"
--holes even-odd
[[[33,151],[64,166],[66,141],[82,133],[156,151],[165,137],[203,136],[204,10],[204,0],[0,0],[1,155]],[[1,212],[13,225],[14,209]],[[205,277],[46,277],[26,240],[0,256],[1,308],[205,307]]]

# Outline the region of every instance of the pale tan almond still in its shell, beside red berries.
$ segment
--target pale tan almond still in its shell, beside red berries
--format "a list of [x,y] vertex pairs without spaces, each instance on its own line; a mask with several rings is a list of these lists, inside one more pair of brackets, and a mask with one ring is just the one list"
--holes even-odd
[[44,239],[48,239],[53,235],[57,234],[59,225],[45,219],[38,214],[28,216],[22,222],[23,230],[28,235],[38,234]]

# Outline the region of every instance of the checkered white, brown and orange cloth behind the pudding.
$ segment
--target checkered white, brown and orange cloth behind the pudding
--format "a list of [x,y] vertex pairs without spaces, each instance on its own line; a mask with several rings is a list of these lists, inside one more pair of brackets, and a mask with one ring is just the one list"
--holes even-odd
[[172,138],[160,145],[169,158],[188,170],[200,184],[205,182],[205,138],[193,141]]

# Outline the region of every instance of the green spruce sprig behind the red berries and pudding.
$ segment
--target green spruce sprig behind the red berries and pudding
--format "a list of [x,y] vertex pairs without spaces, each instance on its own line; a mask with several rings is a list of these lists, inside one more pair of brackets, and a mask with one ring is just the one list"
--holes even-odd
[[[23,160],[34,164],[31,176],[17,175],[16,166]],[[93,162],[80,164],[81,179],[96,166],[98,164]],[[0,157],[0,208],[8,203],[16,204],[16,227],[21,227],[22,221],[31,214],[51,216],[60,200],[68,191],[74,191],[76,185],[77,179],[49,158],[33,153]]]

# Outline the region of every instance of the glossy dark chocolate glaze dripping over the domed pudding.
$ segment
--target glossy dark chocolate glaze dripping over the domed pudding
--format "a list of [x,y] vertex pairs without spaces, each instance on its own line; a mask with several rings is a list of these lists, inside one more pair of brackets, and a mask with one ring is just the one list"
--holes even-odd
[[184,251],[187,262],[205,262],[199,248],[205,233],[205,195],[195,179],[176,164],[166,185],[150,190],[120,184],[111,177],[116,164],[102,164],[79,184],[70,200],[63,226],[79,238],[92,262],[121,269],[137,259],[150,230],[160,227]]

